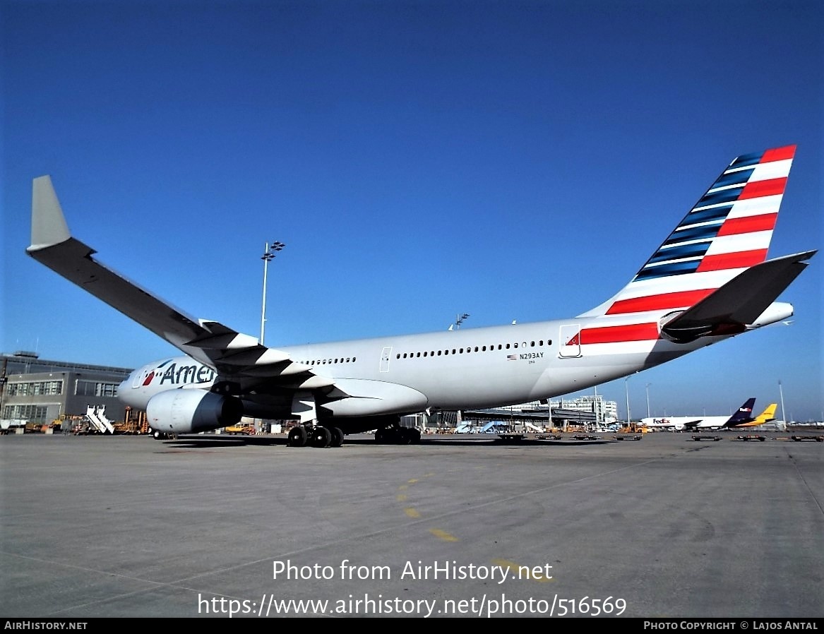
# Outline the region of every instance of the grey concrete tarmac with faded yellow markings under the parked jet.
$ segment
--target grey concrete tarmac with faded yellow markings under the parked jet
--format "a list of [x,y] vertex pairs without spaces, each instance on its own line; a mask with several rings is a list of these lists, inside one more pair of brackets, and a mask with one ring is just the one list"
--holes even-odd
[[824,443],[719,435],[4,436],[0,616],[821,618]]

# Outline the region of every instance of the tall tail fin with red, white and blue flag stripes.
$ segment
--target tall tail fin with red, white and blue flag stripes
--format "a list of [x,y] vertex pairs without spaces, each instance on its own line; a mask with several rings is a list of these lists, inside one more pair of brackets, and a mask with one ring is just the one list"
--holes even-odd
[[690,308],[765,261],[795,148],[737,157],[630,283],[578,317]]

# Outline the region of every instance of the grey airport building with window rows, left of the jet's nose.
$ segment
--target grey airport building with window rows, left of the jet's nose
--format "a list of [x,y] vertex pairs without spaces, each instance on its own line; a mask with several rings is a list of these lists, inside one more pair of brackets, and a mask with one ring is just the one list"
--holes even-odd
[[0,358],[0,418],[48,424],[83,416],[88,406],[105,406],[111,420],[124,420],[117,387],[131,369],[40,359],[19,351]]

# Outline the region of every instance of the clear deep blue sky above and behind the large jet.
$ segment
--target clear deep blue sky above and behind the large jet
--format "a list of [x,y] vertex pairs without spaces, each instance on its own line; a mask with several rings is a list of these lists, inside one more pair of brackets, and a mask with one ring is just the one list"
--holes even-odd
[[[31,179],[196,317],[288,345],[571,317],[733,157],[798,152],[770,256],[822,245],[817,2],[0,2],[0,349],[174,350],[25,254]],[[625,387],[633,416],[821,419],[824,256],[796,315]],[[590,393],[590,391],[587,391]],[[760,411],[760,410],[759,410]]]

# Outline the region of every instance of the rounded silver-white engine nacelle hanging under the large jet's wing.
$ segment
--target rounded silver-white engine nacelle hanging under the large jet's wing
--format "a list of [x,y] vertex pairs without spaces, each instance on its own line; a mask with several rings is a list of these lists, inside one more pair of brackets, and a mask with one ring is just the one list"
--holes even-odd
[[149,399],[146,416],[154,430],[196,434],[235,425],[243,416],[243,403],[205,390],[169,390]]

